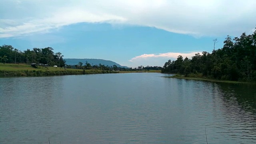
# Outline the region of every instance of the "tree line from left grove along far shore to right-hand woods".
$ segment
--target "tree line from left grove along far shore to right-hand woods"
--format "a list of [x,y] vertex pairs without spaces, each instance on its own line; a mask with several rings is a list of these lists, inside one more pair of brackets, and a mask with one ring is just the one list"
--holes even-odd
[[114,70],[114,71],[138,71],[138,70],[161,70],[160,66],[138,66],[137,68],[124,68],[113,66],[105,66],[104,64],[91,65],[86,61],[85,64],[79,62],[77,65],[66,65],[66,61],[63,59],[63,55],[60,52],[54,53],[54,49],[51,47],[47,48],[33,48],[32,50],[27,49],[23,52],[11,45],[0,46],[0,62],[3,63],[26,63],[26,64],[48,64],[49,66],[57,65],[59,67],[76,68],[83,70]]

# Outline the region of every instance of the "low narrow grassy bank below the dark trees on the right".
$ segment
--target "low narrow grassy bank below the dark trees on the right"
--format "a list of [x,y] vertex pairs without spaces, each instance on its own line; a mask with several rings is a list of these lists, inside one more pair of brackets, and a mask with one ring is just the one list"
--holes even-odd
[[164,76],[165,78],[181,78],[186,80],[203,80],[208,82],[225,82],[225,83],[232,83],[232,84],[256,84],[256,82],[240,82],[240,81],[229,81],[229,80],[216,80],[211,78],[205,78],[205,77],[190,77],[190,76],[184,76],[184,75],[174,75],[174,76]]

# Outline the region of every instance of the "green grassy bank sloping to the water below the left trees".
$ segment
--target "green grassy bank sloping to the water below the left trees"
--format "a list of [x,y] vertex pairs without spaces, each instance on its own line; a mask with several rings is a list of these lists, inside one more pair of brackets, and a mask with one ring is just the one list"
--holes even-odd
[[107,74],[118,73],[106,70],[78,70],[48,67],[33,68],[26,64],[0,64],[0,77],[8,76],[60,76],[60,75],[75,75],[75,74]]

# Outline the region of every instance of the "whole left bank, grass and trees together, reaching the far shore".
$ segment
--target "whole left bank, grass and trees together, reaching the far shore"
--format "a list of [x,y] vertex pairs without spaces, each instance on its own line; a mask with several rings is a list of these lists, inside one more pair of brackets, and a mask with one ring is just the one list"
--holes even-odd
[[88,62],[67,65],[62,53],[54,53],[51,47],[27,49],[22,52],[11,45],[0,46],[0,77],[160,72],[161,69],[162,67],[160,66],[121,68],[116,65],[91,65]]

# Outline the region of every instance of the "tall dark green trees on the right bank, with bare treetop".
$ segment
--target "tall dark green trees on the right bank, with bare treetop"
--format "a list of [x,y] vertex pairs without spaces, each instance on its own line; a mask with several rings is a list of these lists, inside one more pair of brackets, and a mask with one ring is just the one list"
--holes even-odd
[[223,48],[212,53],[197,53],[192,58],[178,56],[177,60],[168,60],[163,73],[179,73],[184,76],[204,76],[219,80],[256,81],[256,30],[253,34],[238,38],[227,36]]

